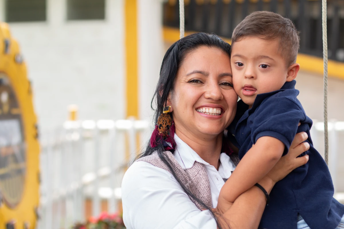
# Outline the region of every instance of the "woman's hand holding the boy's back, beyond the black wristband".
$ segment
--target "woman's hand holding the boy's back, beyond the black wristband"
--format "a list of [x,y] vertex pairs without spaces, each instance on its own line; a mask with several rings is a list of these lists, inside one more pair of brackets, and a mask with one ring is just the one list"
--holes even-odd
[[274,183],[282,180],[291,171],[307,163],[309,156],[305,155],[299,157],[301,153],[309,150],[308,142],[303,142],[307,140],[308,135],[305,132],[300,132],[295,135],[293,142],[289,147],[289,152],[286,156],[281,157],[281,159],[276,163],[276,165],[268,172],[266,178],[271,179]]

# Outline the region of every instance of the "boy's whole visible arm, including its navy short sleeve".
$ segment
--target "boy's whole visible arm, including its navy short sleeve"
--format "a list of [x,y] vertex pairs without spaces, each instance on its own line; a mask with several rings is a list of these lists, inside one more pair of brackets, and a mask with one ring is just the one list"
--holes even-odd
[[295,102],[296,95],[295,101],[290,98],[269,98],[255,111],[251,129],[251,140],[255,145],[228,178],[231,182],[226,182],[221,189],[229,202],[256,184],[288,152],[298,123],[305,120],[302,107]]

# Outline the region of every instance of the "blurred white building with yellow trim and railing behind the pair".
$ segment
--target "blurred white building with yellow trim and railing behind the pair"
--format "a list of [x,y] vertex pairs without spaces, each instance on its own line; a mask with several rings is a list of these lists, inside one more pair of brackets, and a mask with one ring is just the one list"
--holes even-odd
[[[184,2],[186,33],[216,33],[228,42],[252,11],[293,20],[301,32],[299,100],[315,121],[312,138],[323,153],[321,1]],[[120,210],[123,172],[152,130],[150,102],[162,57],[179,39],[179,1],[0,0],[0,21],[20,44],[34,93],[41,134],[38,227],[69,228],[100,211]],[[341,193],[344,0],[327,1],[327,29],[330,169]],[[70,104],[77,108],[68,116]]]

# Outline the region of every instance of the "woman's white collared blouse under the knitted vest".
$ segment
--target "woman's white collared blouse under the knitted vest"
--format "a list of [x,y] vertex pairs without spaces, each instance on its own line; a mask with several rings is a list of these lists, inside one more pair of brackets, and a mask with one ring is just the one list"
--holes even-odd
[[[235,169],[234,163],[221,153],[217,171],[177,135],[174,140],[174,157],[182,168],[191,168],[195,161],[205,165],[215,208],[222,186]],[[122,204],[127,229],[216,228],[210,211],[198,209],[171,173],[148,162],[134,162],[125,173]]]

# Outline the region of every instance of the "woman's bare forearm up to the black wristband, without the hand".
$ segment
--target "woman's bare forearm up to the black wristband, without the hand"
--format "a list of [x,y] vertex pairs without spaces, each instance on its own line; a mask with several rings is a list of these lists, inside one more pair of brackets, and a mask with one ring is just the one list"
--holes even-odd
[[[263,178],[258,182],[270,193],[275,183],[269,178]],[[256,229],[258,228],[261,216],[266,206],[266,197],[264,193],[256,186],[238,196],[222,216],[219,222],[223,228],[230,229]]]

